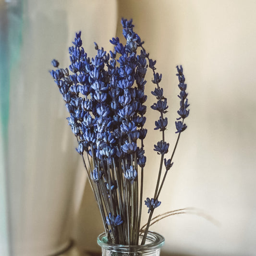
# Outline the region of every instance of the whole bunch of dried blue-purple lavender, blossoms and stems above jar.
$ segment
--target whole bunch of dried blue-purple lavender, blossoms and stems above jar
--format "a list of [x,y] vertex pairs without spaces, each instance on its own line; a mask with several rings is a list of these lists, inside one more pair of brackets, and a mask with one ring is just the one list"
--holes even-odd
[[[156,73],[156,61],[149,58],[144,42],[133,30],[132,20],[122,19],[122,27],[126,44],[122,45],[118,37],[112,38],[110,43],[114,50],[107,53],[95,43],[97,55],[91,59],[82,47],[81,32],[77,33],[74,46],[69,48],[69,69],[50,73],[70,113],[67,120],[77,139],[76,150],[83,158],[108,242],[136,245],[140,243],[140,233],[143,234],[141,244],[145,244],[152,220],[158,220],[152,216],[161,204],[158,198],[163,183],[173,165],[180,135],[187,128],[184,119],[189,114],[189,104],[183,68],[177,66],[180,88],[179,118],[175,122],[177,140],[170,156],[165,157],[169,152],[169,143],[165,140],[168,106],[159,86],[162,75]],[[59,66],[56,60],[52,64]],[[154,146],[159,155],[155,193],[144,201],[146,156],[143,143],[147,134],[144,89],[148,68],[152,70],[155,85],[151,93],[157,99],[151,108],[159,112],[155,130],[159,130],[162,137]],[[149,216],[146,225],[141,227],[144,203]]]

